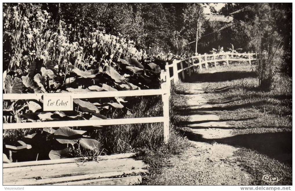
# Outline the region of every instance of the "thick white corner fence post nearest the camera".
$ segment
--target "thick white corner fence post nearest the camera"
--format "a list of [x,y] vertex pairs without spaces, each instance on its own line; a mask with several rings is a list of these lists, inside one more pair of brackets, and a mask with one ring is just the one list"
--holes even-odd
[[[161,84],[161,89],[164,91],[168,89],[168,81],[170,80],[168,77],[169,75],[167,75],[167,71],[165,72],[165,70],[161,70],[160,79],[161,79],[161,82],[163,81],[163,83]],[[169,93],[162,94],[163,117],[165,118],[163,122],[165,143],[168,143],[168,140],[169,140],[169,96],[170,96],[170,88],[169,88]]]

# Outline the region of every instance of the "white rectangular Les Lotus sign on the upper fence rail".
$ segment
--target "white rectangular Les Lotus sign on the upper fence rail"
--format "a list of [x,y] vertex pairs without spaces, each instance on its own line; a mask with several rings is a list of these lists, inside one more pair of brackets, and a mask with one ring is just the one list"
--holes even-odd
[[73,110],[73,100],[71,96],[44,96],[44,111],[69,111]]

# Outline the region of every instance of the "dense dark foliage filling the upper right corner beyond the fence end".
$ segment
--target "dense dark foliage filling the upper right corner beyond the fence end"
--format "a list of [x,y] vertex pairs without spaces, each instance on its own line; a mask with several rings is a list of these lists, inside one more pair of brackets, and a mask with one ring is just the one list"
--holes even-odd
[[266,74],[259,72],[260,81],[271,78],[269,73],[274,71],[292,75],[291,4],[228,3],[220,14],[233,17],[227,35],[235,47],[264,55],[265,59],[259,66],[265,65]]

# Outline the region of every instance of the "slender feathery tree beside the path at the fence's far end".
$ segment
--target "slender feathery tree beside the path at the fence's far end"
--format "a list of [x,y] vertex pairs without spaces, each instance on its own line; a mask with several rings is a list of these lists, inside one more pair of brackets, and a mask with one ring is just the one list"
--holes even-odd
[[249,47],[257,53],[256,72],[259,85],[265,90],[272,86],[275,74],[283,66],[283,36],[276,30],[276,11],[268,4],[255,4],[252,7],[254,19],[242,22],[248,35]]

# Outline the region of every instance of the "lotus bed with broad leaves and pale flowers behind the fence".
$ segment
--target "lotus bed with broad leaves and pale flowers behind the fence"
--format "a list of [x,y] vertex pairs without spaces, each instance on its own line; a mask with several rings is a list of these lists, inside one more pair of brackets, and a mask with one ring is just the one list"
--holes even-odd
[[[56,22],[41,4],[4,4],[3,8],[3,93],[159,88],[159,74],[165,62],[148,57],[145,51],[138,51],[133,41],[100,30],[76,30],[63,20]],[[44,112],[42,99],[5,100],[3,123],[122,117],[130,111],[133,101],[122,97],[74,99],[73,111]],[[15,130],[4,131],[6,151],[31,148],[34,144],[25,144],[23,140],[9,141],[28,138],[26,142],[30,143],[32,138],[39,136],[36,133],[40,130],[36,131],[30,135],[27,135],[28,131],[20,131],[19,135]],[[42,133],[40,136],[45,136],[42,140],[53,141],[46,142],[51,145],[49,147],[43,145],[53,149],[50,151],[53,154],[49,153],[52,159],[70,152],[68,146],[62,146],[64,144],[77,143],[78,151],[80,148],[96,148],[96,153],[100,147],[97,140],[85,137],[86,131],[45,128],[41,132],[49,133],[46,136]],[[58,139],[60,136],[62,138]],[[75,136],[74,140],[72,136]]]

